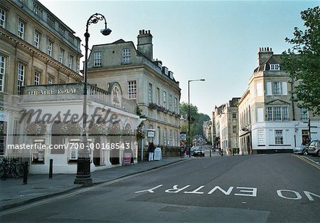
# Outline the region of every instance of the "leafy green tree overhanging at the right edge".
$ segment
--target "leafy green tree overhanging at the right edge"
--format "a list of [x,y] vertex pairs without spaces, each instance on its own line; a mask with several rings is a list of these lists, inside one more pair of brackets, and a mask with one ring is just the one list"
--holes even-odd
[[294,38],[285,38],[292,48],[282,53],[282,66],[292,81],[293,100],[299,108],[320,115],[320,7],[301,12],[305,30],[294,28]]

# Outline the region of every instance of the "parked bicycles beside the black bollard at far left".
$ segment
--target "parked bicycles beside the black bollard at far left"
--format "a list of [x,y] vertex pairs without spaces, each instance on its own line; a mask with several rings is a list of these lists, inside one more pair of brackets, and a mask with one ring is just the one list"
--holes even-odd
[[23,165],[18,159],[13,158],[10,165],[6,158],[0,160],[0,177],[6,178],[11,175],[12,177],[23,177]]

